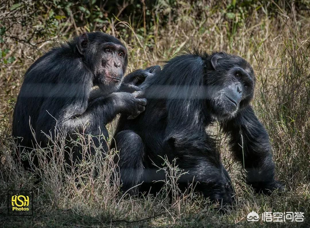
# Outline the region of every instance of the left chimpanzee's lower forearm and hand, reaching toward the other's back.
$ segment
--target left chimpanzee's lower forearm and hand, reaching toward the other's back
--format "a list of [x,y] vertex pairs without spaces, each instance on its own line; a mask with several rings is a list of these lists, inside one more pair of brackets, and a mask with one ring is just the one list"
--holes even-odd
[[[59,110],[59,114],[55,113],[56,117],[53,116],[60,128],[75,131],[82,129],[84,126],[86,130],[88,128],[91,131],[94,127],[107,124],[119,113],[130,115],[144,111],[146,99],[138,98],[140,93],[115,92],[106,97],[93,99],[91,102],[88,102],[86,98],[79,99],[75,103],[65,105],[64,108]],[[50,105],[51,101],[42,105],[42,113],[39,114],[38,121],[47,121],[46,117],[48,115],[44,114],[44,112],[47,112]]]

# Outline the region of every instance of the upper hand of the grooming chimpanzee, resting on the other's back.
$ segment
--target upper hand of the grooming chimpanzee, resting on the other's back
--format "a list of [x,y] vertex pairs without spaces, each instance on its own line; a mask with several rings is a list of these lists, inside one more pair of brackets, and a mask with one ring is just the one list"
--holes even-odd
[[131,72],[126,77],[124,77],[119,91],[128,93],[139,91],[139,85],[144,82],[146,77],[149,76],[153,76],[153,74],[142,69],[135,70],[134,72]]

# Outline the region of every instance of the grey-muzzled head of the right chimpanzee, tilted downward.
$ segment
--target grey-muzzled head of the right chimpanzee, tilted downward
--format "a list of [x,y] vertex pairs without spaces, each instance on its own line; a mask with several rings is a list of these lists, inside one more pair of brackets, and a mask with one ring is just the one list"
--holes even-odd
[[210,56],[206,77],[208,103],[219,119],[231,118],[253,98],[255,76],[243,58],[223,52]]

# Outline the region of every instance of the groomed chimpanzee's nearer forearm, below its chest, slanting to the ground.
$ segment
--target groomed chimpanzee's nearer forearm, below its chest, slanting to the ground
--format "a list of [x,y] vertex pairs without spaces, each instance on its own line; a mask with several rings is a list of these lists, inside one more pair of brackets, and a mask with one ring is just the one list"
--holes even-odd
[[210,139],[195,134],[186,137],[175,135],[168,140],[169,147],[178,157],[178,166],[185,172],[180,185],[193,183],[195,191],[203,193],[210,201],[220,205],[232,205],[234,190],[230,178],[220,161],[218,151],[211,146]]

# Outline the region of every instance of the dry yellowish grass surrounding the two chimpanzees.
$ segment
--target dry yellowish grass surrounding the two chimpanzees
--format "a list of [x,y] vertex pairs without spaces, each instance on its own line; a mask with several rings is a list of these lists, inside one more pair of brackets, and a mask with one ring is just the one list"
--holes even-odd
[[[60,155],[55,162],[43,166],[40,171],[43,180],[33,186],[34,174],[18,170],[10,155],[14,150],[11,139],[12,110],[24,72],[33,63],[33,59],[42,54],[42,50],[49,49],[54,40],[64,40],[74,35],[71,31],[76,25],[72,23],[72,28],[59,26],[55,35],[48,38],[51,41],[35,40],[34,46],[39,49],[13,38],[7,38],[6,43],[1,44],[2,49],[10,49],[8,54],[14,53],[17,57],[13,63],[0,66],[2,224],[7,227],[297,226],[290,222],[250,224],[246,221],[246,215],[254,210],[260,213],[304,212],[306,222],[299,226],[307,227],[306,223],[310,222],[309,11],[296,11],[294,3],[289,4],[288,9],[275,4],[274,14],[271,15],[268,3],[257,3],[260,7],[248,14],[234,30],[234,25],[229,24],[225,16],[226,4],[215,7],[213,1],[198,1],[193,5],[184,1],[177,3],[173,11],[177,16],[168,14],[168,23],[161,26],[159,9],[169,10],[169,7],[164,7],[160,2],[150,15],[155,21],[145,35],[137,33],[137,28],[132,27],[128,21],[116,18],[102,28],[126,44],[130,54],[128,71],[162,64],[182,49],[192,47],[199,47],[207,52],[226,51],[249,61],[258,79],[253,105],[270,135],[277,178],[286,184],[286,192],[269,197],[255,195],[241,181],[241,166],[233,163],[227,150],[226,139],[218,131],[218,126],[214,126],[217,133],[215,137],[222,143],[220,149],[223,162],[237,189],[237,205],[227,215],[218,213],[200,196],[191,193],[181,196],[175,194],[170,201],[166,198],[165,191],[168,191],[171,185],[174,191],[178,191],[173,183],[166,183],[166,190],[157,197],[129,198],[122,195],[118,191],[117,180],[114,185],[108,184],[114,167],[112,161],[115,153],[112,151],[105,159],[98,153],[93,162],[85,162],[80,167],[81,170],[102,167],[98,178],[93,178],[91,174],[81,178],[82,172],[72,172],[66,174],[66,180],[63,181],[63,148],[58,147],[56,151]],[[1,9],[7,12],[5,7]],[[69,18],[68,21],[72,22],[72,19]],[[80,27],[75,31],[83,30],[85,28]],[[11,30],[11,36],[27,40],[27,29],[16,24]],[[113,127],[113,123],[109,125],[111,132]],[[61,137],[59,140],[61,141]],[[86,139],[83,147],[86,148],[88,144],[91,145],[91,142]],[[42,158],[48,153],[40,148],[37,152],[42,154]],[[168,171],[176,177],[180,173],[173,165]],[[80,177],[79,188],[74,182],[76,177]],[[6,216],[6,193],[12,189],[34,190],[33,216]]]

